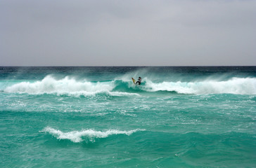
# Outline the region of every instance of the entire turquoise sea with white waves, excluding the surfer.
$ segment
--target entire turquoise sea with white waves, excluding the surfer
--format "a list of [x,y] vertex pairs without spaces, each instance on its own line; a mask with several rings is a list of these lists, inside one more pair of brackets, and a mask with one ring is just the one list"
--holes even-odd
[[256,167],[256,66],[0,67],[0,167]]

